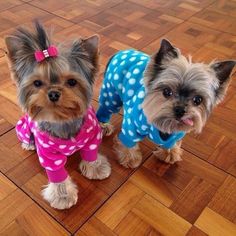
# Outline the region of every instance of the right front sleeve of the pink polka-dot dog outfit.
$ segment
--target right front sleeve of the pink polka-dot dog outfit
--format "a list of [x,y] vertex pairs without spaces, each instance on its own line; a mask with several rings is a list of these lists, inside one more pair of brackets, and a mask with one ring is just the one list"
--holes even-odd
[[89,162],[96,161],[102,139],[102,129],[93,108],[88,109],[81,135],[81,140],[84,142],[84,146],[80,149],[81,158]]

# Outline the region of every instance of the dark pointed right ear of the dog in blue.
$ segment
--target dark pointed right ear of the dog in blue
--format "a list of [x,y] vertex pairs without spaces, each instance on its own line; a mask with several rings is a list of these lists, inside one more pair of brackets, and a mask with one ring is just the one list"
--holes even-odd
[[222,61],[211,64],[211,68],[216,74],[216,78],[219,81],[219,87],[216,90],[216,104],[220,103],[227,91],[231,72],[236,65],[236,61]]

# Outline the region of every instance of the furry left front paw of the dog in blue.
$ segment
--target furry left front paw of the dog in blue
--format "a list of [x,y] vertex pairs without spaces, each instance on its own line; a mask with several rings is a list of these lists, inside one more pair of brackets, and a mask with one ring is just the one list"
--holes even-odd
[[114,137],[114,145],[116,153],[118,154],[119,163],[125,168],[136,168],[142,162],[142,153],[138,144],[132,148],[125,147],[117,136]]

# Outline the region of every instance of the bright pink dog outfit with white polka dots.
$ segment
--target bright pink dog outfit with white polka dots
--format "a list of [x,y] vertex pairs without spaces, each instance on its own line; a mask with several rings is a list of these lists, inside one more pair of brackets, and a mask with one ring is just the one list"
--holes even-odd
[[98,146],[102,139],[102,130],[95,112],[89,107],[84,123],[78,134],[71,139],[50,136],[38,128],[37,122],[24,115],[16,125],[19,140],[25,144],[32,143],[32,135],[40,164],[45,168],[50,182],[64,181],[68,174],[65,170],[67,156],[80,151],[83,160],[92,162],[97,159]]

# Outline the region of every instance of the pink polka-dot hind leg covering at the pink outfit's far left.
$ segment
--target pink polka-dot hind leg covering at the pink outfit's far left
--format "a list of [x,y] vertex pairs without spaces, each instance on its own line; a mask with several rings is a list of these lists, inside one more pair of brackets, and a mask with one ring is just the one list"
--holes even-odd
[[16,124],[16,134],[18,139],[25,144],[34,143],[31,132],[31,118],[26,114]]

